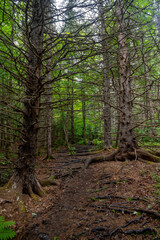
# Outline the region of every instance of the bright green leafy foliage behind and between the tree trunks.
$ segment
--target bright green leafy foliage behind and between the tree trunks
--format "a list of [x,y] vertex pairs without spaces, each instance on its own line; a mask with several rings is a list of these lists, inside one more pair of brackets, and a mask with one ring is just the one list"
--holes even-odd
[[[12,142],[13,140],[13,137],[11,137],[11,139],[7,139],[8,136],[19,136],[19,132],[17,132],[16,129],[21,128],[22,124],[20,113],[23,112],[22,99],[24,99],[24,90],[28,81],[28,73],[26,68],[26,64],[28,62],[28,54],[26,53],[29,47],[28,42],[30,42],[30,39],[27,40],[25,38],[27,38],[27,36],[30,34],[26,34],[24,37],[23,31],[21,30],[23,29],[22,25],[24,22],[27,23],[25,26],[28,26],[29,30],[29,24],[31,22],[30,17],[25,19],[25,17],[30,16],[30,14],[26,14],[26,11],[24,11],[26,2],[17,1],[15,4],[14,2],[16,1],[6,0],[0,2],[0,52],[2,62],[2,67],[0,69],[0,94],[2,99],[3,97],[5,98],[4,102],[1,102],[0,115],[1,122],[4,125],[9,126],[9,128],[6,128],[7,130],[1,130],[2,135],[6,135],[4,136],[4,139],[6,139],[8,143]],[[104,134],[102,117],[104,107],[102,101],[102,46],[101,42],[98,42],[98,39],[96,40],[96,37],[96,41],[94,40],[94,34],[97,36],[100,29],[98,29],[96,25],[92,26],[92,24],[89,24],[89,22],[86,24],[85,17],[82,18],[80,22],[76,19],[76,15],[78,11],[80,11],[80,8],[76,10],[74,7],[75,2],[75,0],[68,1],[68,10],[65,11],[63,19],[64,29],[60,35],[58,34],[59,30],[55,30],[54,42],[51,46],[49,46],[49,41],[47,40],[48,34],[44,34],[46,38],[44,39],[44,49],[46,49],[44,52],[46,52],[46,57],[42,59],[46,60],[44,60],[42,65],[46,66],[48,55],[47,51],[50,49],[51,52],[54,53],[51,54],[51,62],[54,66],[51,72],[52,79],[57,79],[56,81],[52,82],[51,102],[53,102],[54,108],[52,119],[52,129],[54,130],[52,134],[52,138],[54,140],[53,147],[68,145],[68,142],[83,144],[84,142],[88,142],[94,139],[93,143],[95,144],[95,149],[100,149],[103,147],[103,141],[100,141],[99,139],[102,139]],[[156,2],[158,6],[159,3],[158,1]],[[106,32],[108,36],[106,39],[107,46],[105,52],[108,54],[108,61],[111,65],[111,68],[109,68],[110,70],[107,71],[107,77],[108,79],[113,79],[113,81],[110,82],[110,89],[111,92],[113,92],[113,95],[115,95],[116,92],[119,92],[115,92],[114,89],[117,88],[118,90],[118,79],[120,74],[119,64],[117,65],[117,22],[116,19],[113,18],[115,11],[114,7],[116,6],[113,6],[110,11],[107,11],[104,14],[104,19],[106,21]],[[95,11],[98,11],[98,9]],[[82,12],[85,12],[84,9],[82,9]],[[158,143],[158,138],[156,141],[154,138],[150,137],[151,134],[148,134],[151,133],[152,130],[151,120],[145,121],[142,125],[143,127],[139,126],[139,122],[143,122],[144,120],[143,118],[145,115],[144,110],[146,108],[146,93],[153,93],[151,100],[156,100],[157,96],[159,95],[158,79],[160,70],[159,53],[157,51],[159,41],[157,40],[158,29],[156,27],[156,14],[160,15],[159,8],[155,7],[153,1],[135,0],[133,4],[126,5],[126,11],[124,13],[124,19],[129,19],[129,25],[127,25],[126,30],[128,51],[131,60],[130,74],[134,79],[132,84],[133,96],[136,93],[135,97],[133,97],[133,125],[138,126],[135,130],[138,139],[140,142],[142,142],[142,146],[150,146],[153,144],[155,146],[160,146]],[[93,13],[91,11],[91,16],[92,14]],[[56,14],[53,15],[56,16]],[[80,12],[78,15],[81,16]],[[85,28],[83,25],[80,27],[80,25],[83,24],[83,21],[84,26],[86,25],[87,28]],[[97,24],[100,26],[98,21]],[[136,25],[133,28],[132,26],[134,24]],[[56,26],[53,28],[56,29]],[[74,33],[76,33],[76,35]],[[91,35],[89,33],[91,33]],[[110,52],[112,52],[112,54],[110,54]],[[146,84],[144,65],[146,65],[148,68],[147,78],[149,78],[149,84]],[[44,76],[46,75],[45,68],[46,67],[42,69]],[[112,82],[115,84],[115,86],[114,84],[112,86]],[[146,85],[150,86],[147,91]],[[7,97],[10,95],[10,93],[12,93],[12,98]],[[116,117],[116,111],[119,106],[119,103],[116,103],[118,99],[116,100],[115,98],[114,100],[114,98],[111,97],[111,106],[114,106],[111,108],[111,119],[113,119],[113,141],[115,141],[114,139],[116,139],[117,134],[116,125],[118,120]],[[142,103],[144,103],[143,112],[141,112]],[[159,118],[159,107],[157,100],[154,101],[153,106],[155,107],[153,120],[154,123],[157,123],[157,126],[159,123],[158,120],[156,120],[156,118]],[[3,109],[5,109],[5,111],[3,111]],[[74,139],[72,139],[71,135],[72,110],[74,118]],[[13,113],[10,113],[10,111]],[[138,122],[138,125],[136,122]],[[43,128],[44,126],[41,127]],[[157,136],[160,136],[160,128],[155,127],[155,131]],[[67,138],[65,138],[66,135]],[[70,155],[75,154],[74,149],[69,149],[69,151]],[[10,155],[10,157],[12,156]],[[3,158],[3,156],[0,155],[0,158]],[[0,164],[5,165],[6,162],[1,160]]]

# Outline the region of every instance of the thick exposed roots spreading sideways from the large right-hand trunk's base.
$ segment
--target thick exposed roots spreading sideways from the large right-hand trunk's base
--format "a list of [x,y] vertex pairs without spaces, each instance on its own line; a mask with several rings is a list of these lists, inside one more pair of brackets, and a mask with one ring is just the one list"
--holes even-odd
[[92,162],[103,162],[103,161],[125,161],[125,160],[138,160],[144,159],[151,162],[160,162],[160,157],[155,156],[149,152],[146,152],[142,149],[135,149],[134,152],[125,152],[122,153],[120,150],[116,150],[109,155],[96,156],[89,158],[85,161],[85,168],[89,166]]

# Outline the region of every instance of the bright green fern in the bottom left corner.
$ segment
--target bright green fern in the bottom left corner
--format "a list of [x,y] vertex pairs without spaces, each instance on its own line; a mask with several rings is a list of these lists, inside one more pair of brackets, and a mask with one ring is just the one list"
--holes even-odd
[[0,216],[0,240],[12,239],[16,233],[10,228],[15,222],[13,221],[4,221],[4,217]]

